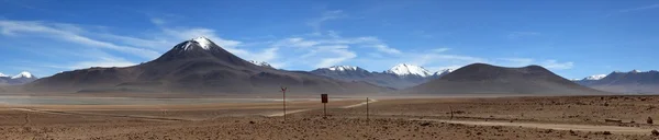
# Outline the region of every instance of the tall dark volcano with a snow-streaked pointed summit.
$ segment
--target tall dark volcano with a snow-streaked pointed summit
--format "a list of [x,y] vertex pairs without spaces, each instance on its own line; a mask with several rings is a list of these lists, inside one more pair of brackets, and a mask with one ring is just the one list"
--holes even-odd
[[90,68],[57,73],[24,86],[31,92],[149,92],[200,94],[379,93],[390,89],[346,82],[303,71],[256,66],[205,37],[182,42],[159,58],[124,68]]

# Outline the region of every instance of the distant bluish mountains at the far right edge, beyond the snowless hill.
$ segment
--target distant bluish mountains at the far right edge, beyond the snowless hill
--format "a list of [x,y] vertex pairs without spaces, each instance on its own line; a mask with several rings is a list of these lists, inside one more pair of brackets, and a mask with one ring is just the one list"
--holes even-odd
[[628,94],[659,94],[659,72],[656,70],[629,72],[614,71],[573,80],[593,89]]

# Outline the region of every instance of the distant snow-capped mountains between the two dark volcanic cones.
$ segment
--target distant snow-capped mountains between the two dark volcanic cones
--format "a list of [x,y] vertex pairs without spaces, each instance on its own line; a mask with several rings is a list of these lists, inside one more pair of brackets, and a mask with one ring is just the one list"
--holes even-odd
[[380,86],[406,89],[440,78],[449,73],[450,69],[429,72],[423,67],[400,63],[382,72],[369,72],[354,66],[333,66],[312,70],[311,73],[344,81],[365,81]]

